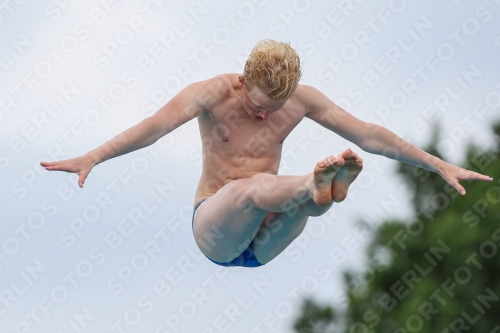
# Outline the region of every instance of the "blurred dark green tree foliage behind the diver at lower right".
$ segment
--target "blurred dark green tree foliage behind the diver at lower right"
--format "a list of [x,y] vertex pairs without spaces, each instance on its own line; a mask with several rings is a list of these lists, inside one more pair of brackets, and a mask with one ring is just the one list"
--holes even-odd
[[[469,145],[463,167],[494,181],[462,181],[465,196],[435,173],[400,165],[415,217],[380,225],[369,267],[344,274],[346,309],[308,300],[296,332],[500,333],[500,124],[493,130],[495,144]],[[426,151],[440,156],[434,133]]]

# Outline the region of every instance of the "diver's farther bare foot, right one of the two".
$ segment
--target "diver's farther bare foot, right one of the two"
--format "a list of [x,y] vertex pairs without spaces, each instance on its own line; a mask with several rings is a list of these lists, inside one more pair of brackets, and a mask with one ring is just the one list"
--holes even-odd
[[350,149],[346,149],[338,158],[343,158],[345,163],[333,178],[332,199],[335,202],[346,198],[349,186],[363,170],[363,159]]

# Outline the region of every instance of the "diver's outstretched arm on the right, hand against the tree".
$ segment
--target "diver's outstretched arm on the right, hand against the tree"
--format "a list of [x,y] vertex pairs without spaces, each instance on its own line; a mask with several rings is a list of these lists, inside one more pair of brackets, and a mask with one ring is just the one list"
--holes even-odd
[[308,118],[351,141],[366,152],[436,172],[462,195],[465,194],[465,189],[460,185],[460,180],[492,180],[491,177],[446,163],[411,145],[385,127],[357,119],[315,88],[304,86],[301,100],[308,109],[306,115]]

